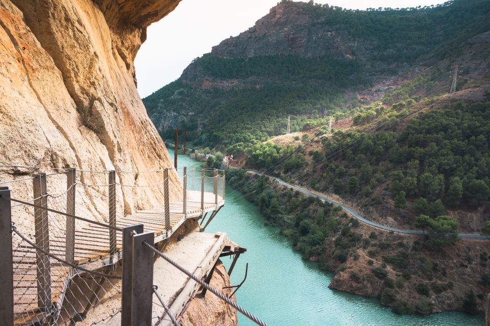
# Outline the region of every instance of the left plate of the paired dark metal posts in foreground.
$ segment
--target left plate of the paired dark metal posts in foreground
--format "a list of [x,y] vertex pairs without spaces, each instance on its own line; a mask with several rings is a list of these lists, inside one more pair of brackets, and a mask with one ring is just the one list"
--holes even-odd
[[143,224],[122,228],[122,294],[121,326],[131,325],[131,306],[133,297],[133,237],[132,233],[143,233]]

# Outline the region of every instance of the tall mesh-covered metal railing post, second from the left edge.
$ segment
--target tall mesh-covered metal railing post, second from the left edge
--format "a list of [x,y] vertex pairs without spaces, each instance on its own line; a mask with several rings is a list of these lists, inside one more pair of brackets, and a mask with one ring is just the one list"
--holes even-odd
[[[34,205],[47,208],[46,173],[33,175]],[[50,230],[47,210],[34,209],[34,228],[36,245],[44,252],[50,252]],[[51,312],[51,262],[50,258],[36,249],[37,266],[37,305],[39,310],[48,314]]]

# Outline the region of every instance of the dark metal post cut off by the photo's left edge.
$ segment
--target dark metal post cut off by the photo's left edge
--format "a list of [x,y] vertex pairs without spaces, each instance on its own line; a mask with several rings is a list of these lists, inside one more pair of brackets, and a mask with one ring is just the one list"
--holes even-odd
[[[9,187],[0,187],[0,195],[10,198]],[[0,320],[14,324],[14,279],[12,261],[12,212],[10,200],[0,199]]]

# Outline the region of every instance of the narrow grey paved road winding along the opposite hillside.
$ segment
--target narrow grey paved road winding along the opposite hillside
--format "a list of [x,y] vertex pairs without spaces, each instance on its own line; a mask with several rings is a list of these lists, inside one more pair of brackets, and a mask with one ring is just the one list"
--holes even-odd
[[[386,225],[382,225],[382,224],[379,224],[379,223],[376,223],[376,222],[373,222],[373,221],[370,221],[368,219],[365,219],[364,217],[362,217],[361,215],[359,215],[359,213],[357,213],[356,211],[354,211],[352,208],[344,205],[344,204],[341,204],[339,202],[336,202],[335,200],[333,199],[330,199],[324,195],[321,195],[321,194],[317,194],[317,193],[314,193],[314,192],[311,192],[305,188],[301,188],[299,186],[295,186],[295,185],[292,185],[288,182],[285,182],[284,180],[281,180],[277,177],[273,177],[272,175],[267,175],[267,174],[264,174],[262,172],[259,172],[259,171],[256,171],[256,170],[249,170],[250,172],[252,173],[255,173],[255,174],[258,174],[258,175],[264,175],[265,177],[269,177],[269,178],[272,178],[274,180],[276,180],[278,183],[284,185],[284,186],[287,186],[289,188],[292,188],[292,189],[295,189],[295,190],[298,190],[304,194],[307,194],[307,195],[310,195],[312,197],[316,197],[320,200],[322,200],[323,202],[329,202],[329,203],[332,203],[333,205],[336,205],[336,206],[340,206],[342,209],[344,209],[346,212],[348,212],[349,214],[351,214],[352,216],[354,216],[356,219],[358,219],[359,221],[367,224],[367,225],[371,225],[372,227],[375,227],[375,228],[378,228],[378,229],[382,229],[382,230],[386,230],[386,231],[393,231],[395,233],[404,233],[404,234],[411,234],[411,235],[424,235],[424,232],[423,231],[419,231],[419,230],[403,230],[403,229],[396,229],[396,228],[391,228],[391,227],[387,227]],[[426,232],[427,234],[427,232]],[[468,238],[468,239],[490,239],[490,236],[484,236],[484,235],[480,235],[480,234],[471,234],[471,233],[459,233],[458,234],[458,237],[460,238]]]

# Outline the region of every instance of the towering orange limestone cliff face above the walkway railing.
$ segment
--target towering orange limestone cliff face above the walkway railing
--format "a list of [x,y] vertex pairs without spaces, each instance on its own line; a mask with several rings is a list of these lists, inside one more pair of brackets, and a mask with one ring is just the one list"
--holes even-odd
[[[171,167],[137,93],[133,60],[146,27],[179,2],[0,0],[0,161],[92,170]],[[0,177],[35,171],[3,167]],[[117,178],[135,183],[131,174]],[[182,191],[175,172],[171,179],[176,199]],[[148,173],[138,183],[156,180]],[[120,195],[129,206],[161,199],[153,190]]]

